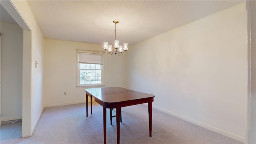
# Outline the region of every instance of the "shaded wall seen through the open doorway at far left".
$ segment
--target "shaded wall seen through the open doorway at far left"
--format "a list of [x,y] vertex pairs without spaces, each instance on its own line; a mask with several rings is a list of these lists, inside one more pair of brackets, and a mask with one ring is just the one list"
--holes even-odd
[[1,22],[1,122],[22,118],[22,41],[18,24]]

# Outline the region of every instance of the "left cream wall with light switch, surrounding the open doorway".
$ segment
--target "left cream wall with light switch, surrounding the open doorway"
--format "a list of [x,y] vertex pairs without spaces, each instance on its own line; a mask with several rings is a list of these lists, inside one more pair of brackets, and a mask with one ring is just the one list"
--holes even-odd
[[[19,16],[13,17],[16,22],[23,28],[23,47],[26,57],[23,57],[23,88],[22,91],[22,137],[31,136],[36,124],[43,111],[43,44],[44,37],[34,18],[27,1],[11,0],[4,7],[8,12],[13,6]],[[16,13],[17,13],[16,12]],[[10,12],[9,12],[10,13]],[[10,13],[13,16],[15,13]],[[22,22],[21,22],[22,21]],[[26,26],[29,28],[26,29]],[[34,61],[38,61],[38,68],[34,67]],[[29,62],[29,66],[27,65]],[[25,67],[24,67],[25,66]],[[25,68],[25,69],[24,69]],[[26,84],[26,85],[24,85]]]

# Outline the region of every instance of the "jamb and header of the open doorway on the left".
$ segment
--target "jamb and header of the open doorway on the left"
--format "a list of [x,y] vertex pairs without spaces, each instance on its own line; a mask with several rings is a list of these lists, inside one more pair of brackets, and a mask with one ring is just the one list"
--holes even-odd
[[23,29],[22,60],[22,138],[32,135],[31,119],[31,79],[32,79],[32,42],[31,29],[10,0],[1,0],[1,5]]

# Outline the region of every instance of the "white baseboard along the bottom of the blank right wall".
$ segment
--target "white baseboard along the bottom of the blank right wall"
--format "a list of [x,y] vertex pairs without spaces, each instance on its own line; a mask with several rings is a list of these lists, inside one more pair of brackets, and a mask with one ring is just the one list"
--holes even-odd
[[232,134],[232,133],[230,133],[230,132],[226,132],[226,131],[224,131],[224,130],[221,130],[221,129],[219,129],[219,128],[215,128],[215,127],[213,127],[213,126],[204,124],[204,123],[202,123],[202,122],[198,122],[198,121],[196,121],[196,120],[192,120],[192,119],[190,119],[190,118],[187,118],[187,117],[185,117],[185,116],[181,116],[181,115],[176,114],[176,113],[174,113],[174,112],[170,112],[170,111],[168,111],[168,110],[164,110],[164,109],[159,108],[159,107],[157,107],[157,106],[152,106],[152,107],[153,107],[154,109],[156,109],[156,110],[160,110],[160,111],[162,111],[162,112],[165,112],[165,113],[167,113],[167,114],[170,114],[170,115],[175,116],[175,117],[177,117],[177,118],[180,118],[180,119],[182,119],[182,120],[186,120],[186,121],[188,121],[188,122],[190,122],[190,123],[192,123],[192,124],[196,124],[196,125],[198,125],[198,126],[201,126],[201,127],[203,127],[203,128],[206,128],[206,129],[208,129],[208,130],[211,130],[211,131],[217,132],[217,133],[219,133],[219,134],[222,134],[222,135],[224,135],[224,136],[227,136],[227,137],[229,137],[229,138],[232,138],[232,139],[234,139],[234,140],[238,140],[238,141],[240,141],[240,142],[245,142],[245,138],[244,138],[244,137],[238,136],[238,135],[236,135],[236,134]]

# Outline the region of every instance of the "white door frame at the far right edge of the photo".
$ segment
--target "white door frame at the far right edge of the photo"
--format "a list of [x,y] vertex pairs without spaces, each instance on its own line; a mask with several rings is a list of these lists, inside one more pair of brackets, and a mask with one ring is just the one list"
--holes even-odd
[[246,144],[256,143],[256,1],[246,0],[247,10],[247,131]]

